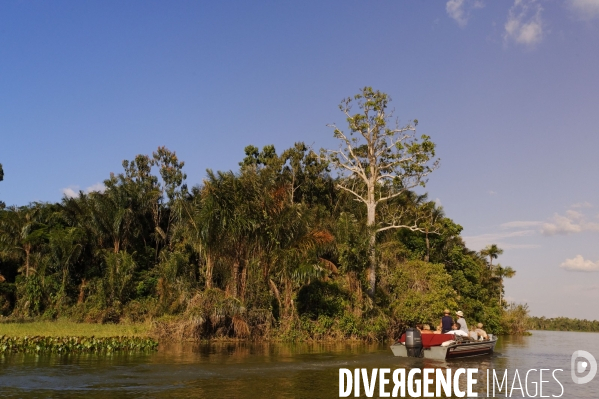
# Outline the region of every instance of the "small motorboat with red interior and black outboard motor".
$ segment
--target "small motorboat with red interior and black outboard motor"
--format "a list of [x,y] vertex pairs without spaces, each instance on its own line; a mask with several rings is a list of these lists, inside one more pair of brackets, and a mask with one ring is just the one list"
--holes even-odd
[[497,337],[476,341],[453,334],[420,334],[417,329],[408,328],[401,339],[391,345],[391,350],[395,356],[400,357],[446,360],[490,355],[495,350],[495,344]]

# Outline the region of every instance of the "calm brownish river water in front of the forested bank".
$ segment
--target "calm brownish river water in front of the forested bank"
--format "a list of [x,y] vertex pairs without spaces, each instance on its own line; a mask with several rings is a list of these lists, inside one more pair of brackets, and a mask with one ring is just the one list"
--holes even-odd
[[[576,350],[599,359],[599,334],[535,331],[529,337],[500,337],[493,356],[447,362],[396,358],[388,345],[340,343],[172,344],[149,354],[11,354],[0,355],[0,397],[337,398],[340,368],[434,367],[478,368],[478,397],[487,397],[487,369],[501,376],[508,370],[509,385],[517,369],[523,386],[529,369],[550,369],[542,378],[548,381],[544,396],[562,393],[557,379],[563,398],[599,398],[599,374],[584,385],[572,381],[570,359]],[[563,369],[555,372],[556,379],[551,375],[555,369]],[[529,393],[515,390],[512,397],[534,395],[533,382],[538,386],[539,380],[531,372]]]

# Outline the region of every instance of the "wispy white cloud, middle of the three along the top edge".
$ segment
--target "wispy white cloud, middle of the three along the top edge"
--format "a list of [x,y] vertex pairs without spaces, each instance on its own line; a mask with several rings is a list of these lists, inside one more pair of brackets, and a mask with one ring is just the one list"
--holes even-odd
[[534,46],[543,39],[543,7],[538,0],[515,0],[508,12],[504,40]]

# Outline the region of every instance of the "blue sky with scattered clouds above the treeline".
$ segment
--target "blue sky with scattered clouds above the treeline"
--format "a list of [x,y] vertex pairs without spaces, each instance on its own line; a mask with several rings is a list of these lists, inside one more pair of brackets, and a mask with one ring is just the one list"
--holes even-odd
[[438,145],[427,186],[532,314],[599,319],[599,0],[0,3],[7,204],[166,145],[188,182],[248,144],[336,148],[360,87]]

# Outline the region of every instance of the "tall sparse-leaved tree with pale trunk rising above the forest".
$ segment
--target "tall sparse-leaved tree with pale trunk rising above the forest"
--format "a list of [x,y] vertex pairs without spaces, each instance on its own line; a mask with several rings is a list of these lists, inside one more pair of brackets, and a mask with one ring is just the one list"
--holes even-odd
[[[347,179],[340,180],[338,187],[363,202],[367,209],[366,224],[369,228],[368,271],[369,295],[376,288],[376,235],[378,232],[409,228],[422,231],[417,221],[405,223],[399,212],[385,212],[377,217],[377,207],[407,190],[426,184],[426,177],[438,167],[435,144],[429,136],[416,137],[417,120],[400,126],[392,122],[393,112],[387,107],[391,99],[385,93],[365,87],[353,98],[344,99],[339,109],[345,114],[349,133],[335,124],[334,135],[341,141],[339,150],[328,151],[329,160]],[[352,113],[357,104],[359,113]],[[431,163],[432,161],[432,163]]]

